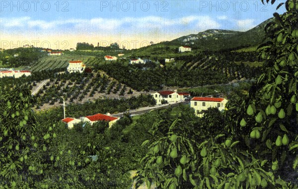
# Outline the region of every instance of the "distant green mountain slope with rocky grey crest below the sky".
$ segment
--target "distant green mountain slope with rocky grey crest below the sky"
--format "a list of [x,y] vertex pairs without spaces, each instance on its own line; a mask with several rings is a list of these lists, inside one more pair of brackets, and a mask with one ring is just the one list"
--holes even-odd
[[266,24],[272,20],[273,18],[270,18],[245,32],[209,29],[197,34],[182,36],[172,41],[161,42],[141,49],[132,50],[131,54],[135,56],[143,55],[144,52],[146,52],[147,55],[174,54],[176,48],[179,46],[190,46],[194,52],[237,50],[258,46],[265,36],[264,28]]

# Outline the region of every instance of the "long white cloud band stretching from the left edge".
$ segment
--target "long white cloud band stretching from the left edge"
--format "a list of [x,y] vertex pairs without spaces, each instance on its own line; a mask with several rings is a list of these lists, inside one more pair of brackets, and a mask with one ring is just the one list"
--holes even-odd
[[[184,28],[188,26],[192,29],[211,29],[219,28],[220,24],[217,23],[210,16],[185,16],[181,18],[164,18],[160,16],[145,16],[145,17],[124,17],[120,19],[107,19],[102,17],[92,18],[92,19],[67,19],[67,20],[34,20],[30,17],[20,17],[20,18],[1,18],[1,26],[10,30],[12,27],[22,27],[23,31],[28,30],[49,30],[51,31],[61,31],[65,28],[73,28],[73,31],[91,31],[97,32],[98,30],[102,32],[109,33],[110,31],[117,31],[124,29],[126,31],[132,31],[137,29],[173,29],[174,28]],[[65,27],[67,26],[67,27]],[[3,29],[2,28],[2,29]]]

